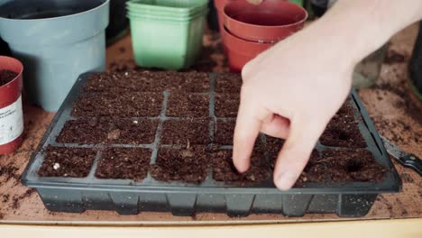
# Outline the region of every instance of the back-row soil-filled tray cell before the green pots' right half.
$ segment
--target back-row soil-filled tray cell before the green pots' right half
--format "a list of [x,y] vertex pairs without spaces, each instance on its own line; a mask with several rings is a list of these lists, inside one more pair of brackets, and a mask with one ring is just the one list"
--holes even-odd
[[188,93],[209,92],[209,77],[207,73],[176,73],[168,72],[167,81],[172,91],[183,91]]

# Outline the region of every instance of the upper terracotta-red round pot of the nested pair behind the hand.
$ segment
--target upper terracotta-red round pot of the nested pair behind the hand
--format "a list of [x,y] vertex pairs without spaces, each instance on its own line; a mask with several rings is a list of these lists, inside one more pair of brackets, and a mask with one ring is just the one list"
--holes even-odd
[[307,11],[284,0],[266,0],[252,5],[237,0],[225,5],[224,23],[228,31],[248,41],[277,42],[301,30]]

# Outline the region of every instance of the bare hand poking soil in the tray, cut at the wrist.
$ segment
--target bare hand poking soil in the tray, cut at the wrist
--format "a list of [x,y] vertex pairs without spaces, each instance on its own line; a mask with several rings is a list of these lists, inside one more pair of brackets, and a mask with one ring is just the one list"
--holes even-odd
[[[319,37],[310,26],[252,59],[242,72],[241,104],[234,132],[234,165],[250,166],[258,134],[285,138],[274,169],[275,185],[291,188],[319,136],[343,105],[358,59],[344,45]],[[311,41],[312,40],[312,41]]]

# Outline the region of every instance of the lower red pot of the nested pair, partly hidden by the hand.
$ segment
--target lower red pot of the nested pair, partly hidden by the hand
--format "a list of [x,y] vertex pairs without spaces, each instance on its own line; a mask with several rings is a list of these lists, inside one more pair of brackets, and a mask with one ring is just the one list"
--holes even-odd
[[229,67],[233,72],[242,71],[243,66],[247,62],[274,45],[274,43],[259,43],[243,40],[235,37],[226,28],[223,28],[222,36]]

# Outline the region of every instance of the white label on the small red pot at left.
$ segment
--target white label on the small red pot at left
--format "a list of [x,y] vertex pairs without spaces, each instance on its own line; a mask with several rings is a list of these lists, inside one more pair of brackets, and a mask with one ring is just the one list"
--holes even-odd
[[13,142],[23,133],[22,96],[0,108],[0,145]]

